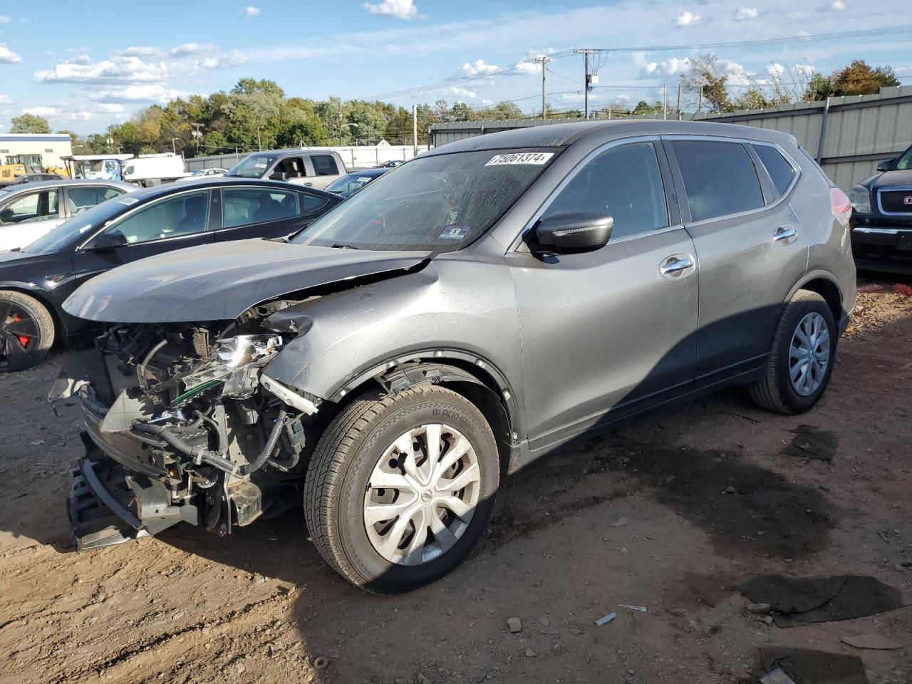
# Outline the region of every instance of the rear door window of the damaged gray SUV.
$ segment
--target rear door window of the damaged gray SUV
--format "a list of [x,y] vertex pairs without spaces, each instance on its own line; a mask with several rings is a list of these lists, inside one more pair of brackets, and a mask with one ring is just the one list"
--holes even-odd
[[740,142],[674,140],[691,221],[706,221],[763,206],[760,179]]

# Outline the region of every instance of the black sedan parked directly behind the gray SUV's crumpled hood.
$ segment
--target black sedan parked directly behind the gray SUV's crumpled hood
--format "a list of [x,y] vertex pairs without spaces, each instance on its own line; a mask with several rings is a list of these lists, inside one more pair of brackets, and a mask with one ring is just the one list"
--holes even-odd
[[342,202],[280,181],[218,178],[131,192],[0,252],[0,373],[28,368],[88,323],[64,300],[93,275],[182,247],[295,233]]

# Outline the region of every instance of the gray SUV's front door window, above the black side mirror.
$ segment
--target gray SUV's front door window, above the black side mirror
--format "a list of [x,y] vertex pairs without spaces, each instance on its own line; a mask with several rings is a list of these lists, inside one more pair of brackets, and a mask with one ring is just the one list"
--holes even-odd
[[668,205],[653,144],[621,145],[589,161],[567,183],[544,217],[560,212],[611,216],[615,220],[612,240],[668,226]]

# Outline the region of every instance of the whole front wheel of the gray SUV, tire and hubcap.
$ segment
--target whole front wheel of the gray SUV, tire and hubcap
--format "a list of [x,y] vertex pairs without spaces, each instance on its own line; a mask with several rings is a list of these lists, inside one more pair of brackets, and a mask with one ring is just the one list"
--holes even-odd
[[395,593],[450,572],[491,518],[499,479],[491,427],[437,386],[355,400],[316,445],[307,528],[326,562],[368,591]]

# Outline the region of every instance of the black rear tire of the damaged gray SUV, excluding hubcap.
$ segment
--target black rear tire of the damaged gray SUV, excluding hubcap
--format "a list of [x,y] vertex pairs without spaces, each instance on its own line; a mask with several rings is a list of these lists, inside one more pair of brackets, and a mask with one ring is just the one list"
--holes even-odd
[[[804,316],[816,313],[823,316],[829,333],[829,359],[824,370],[824,377],[813,393],[803,396],[793,387],[789,377],[791,368],[791,347],[795,330]],[[810,290],[799,290],[785,305],[776,335],[772,340],[770,356],[767,358],[765,375],[758,382],[751,385],[749,391],[751,399],[761,409],[775,413],[794,415],[803,413],[814,407],[814,404],[823,396],[836,357],[836,342],[839,331],[835,326],[833,312],[824,300],[824,297]]]

